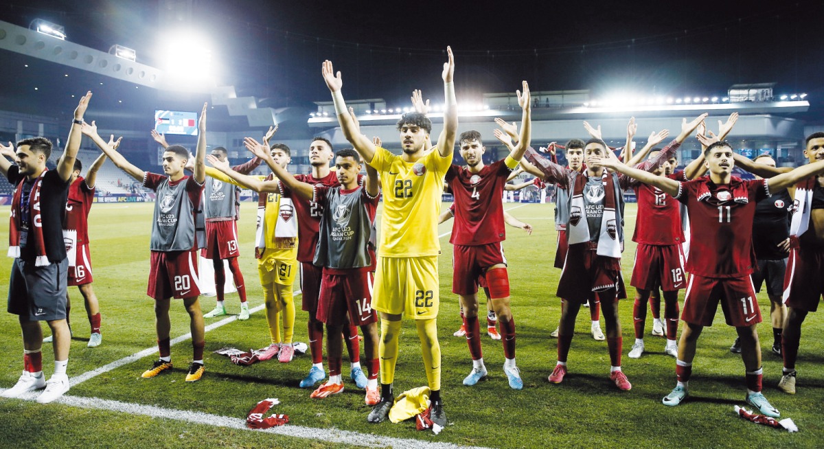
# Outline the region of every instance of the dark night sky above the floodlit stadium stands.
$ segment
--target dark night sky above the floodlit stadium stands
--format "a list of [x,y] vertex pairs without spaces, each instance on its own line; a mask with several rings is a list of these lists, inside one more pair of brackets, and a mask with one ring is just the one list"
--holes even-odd
[[[28,26],[41,17],[65,26],[68,40],[104,51],[125,44],[137,50],[138,62],[152,65],[164,3],[9,0],[0,19]],[[733,83],[778,82],[777,93],[807,92],[813,111],[824,96],[822,19],[820,1],[198,0],[192,15],[215,49],[223,81],[273,107],[328,100],[325,58],[343,72],[348,98],[406,105],[419,87],[438,101],[443,49],[450,44],[459,101],[513,91],[522,79],[533,91],[590,89],[594,96],[615,89],[720,96]],[[48,83],[57,72],[62,69],[50,63],[37,75],[4,71],[0,82],[8,95],[0,107],[15,101],[38,107],[48,93],[35,99],[27,83],[43,83],[36,77]]]

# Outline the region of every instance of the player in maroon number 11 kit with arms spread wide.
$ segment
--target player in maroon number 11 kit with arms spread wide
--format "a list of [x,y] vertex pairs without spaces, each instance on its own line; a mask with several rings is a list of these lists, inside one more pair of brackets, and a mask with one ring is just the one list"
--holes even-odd
[[600,161],[686,203],[692,235],[696,237],[691,242],[686,265],[691,276],[681,316],[685,324],[678,342],[677,386],[662,402],[679,405],[686,399],[698,337],[704,326],[712,325],[721,302],[727,324],[735,326],[741,338],[742,359],[747,370],[747,403],[761,414],[778,417],[779,411],[761,393],[761,346],[756,332],[761,311],[749,276],[757,266],[751,243],[752,219],[759,200],[824,173],[824,161],[798,167],[769,180],[741,180],[732,175],[735,162],[729,143],[704,136],[699,139],[706,146],[704,157],[709,176],[696,180],[679,182],[613,160]]

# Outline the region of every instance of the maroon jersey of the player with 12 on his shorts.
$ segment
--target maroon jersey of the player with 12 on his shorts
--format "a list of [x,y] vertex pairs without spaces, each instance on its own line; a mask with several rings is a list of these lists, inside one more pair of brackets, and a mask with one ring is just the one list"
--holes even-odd
[[[682,179],[677,174],[671,180]],[[681,203],[653,185],[634,185],[638,199],[638,219],[632,241],[644,245],[678,245],[684,242]]]

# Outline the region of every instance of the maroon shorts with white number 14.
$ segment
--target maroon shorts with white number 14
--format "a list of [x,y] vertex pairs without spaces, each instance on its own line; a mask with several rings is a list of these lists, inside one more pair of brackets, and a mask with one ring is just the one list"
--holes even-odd
[[372,282],[370,271],[353,270],[349,274],[323,274],[321,297],[317,302],[317,320],[327,325],[346,324],[346,314],[352,325],[377,322],[372,310]]

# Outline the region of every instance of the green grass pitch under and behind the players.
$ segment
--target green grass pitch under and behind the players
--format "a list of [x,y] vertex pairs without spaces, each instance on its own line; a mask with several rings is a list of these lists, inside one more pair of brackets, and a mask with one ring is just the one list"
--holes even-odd
[[[269,335],[262,311],[248,321],[235,321],[206,334],[206,374],[202,381],[186,384],[185,369],[191,358],[190,341],[171,348],[175,369],[154,379],[141,379],[156,355],[126,364],[74,386],[68,395],[118,400],[185,410],[191,414],[216,414],[244,419],[255,403],[277,397],[272,410],[288,414],[291,423],[308,428],[336,428],[377,436],[409,438],[420,442],[449,442],[483,447],[820,447],[824,441],[824,331],[822,313],[811,314],[804,324],[798,359],[798,394],[785,395],[775,388],[780,378],[780,358],[770,353],[769,300],[758,299],[765,323],[759,326],[764,359],[764,392],[781,411],[792,418],[799,433],[759,426],[737,418],[733,405],[744,405],[744,368],[740,357],[728,348],[734,330],[716,317],[716,325],[702,334],[693,368],[691,400],[678,407],[661,405],[661,398],[675,384],[675,361],[663,353],[664,339],[649,335],[647,353],[637,360],[626,357],[634,341],[632,297],[620,303],[624,335],[624,371],[632,391],[621,392],[611,384],[606,342],[589,335],[589,316],[582,309],[578,331],[569,356],[569,376],[561,385],[550,385],[546,377],[555,366],[555,329],[559,299],[555,297],[559,270],[552,268],[555,229],[550,204],[506,203],[504,207],[535,232],[507,228],[504,248],[509,262],[513,314],[517,322],[517,364],[524,389],[512,391],[503,375],[503,349],[485,334],[483,349],[489,378],[473,387],[461,384],[471,369],[466,341],[452,336],[459,326],[457,299],[451,293],[452,257],[448,236],[442,236],[439,261],[441,312],[438,336],[442,349],[442,391],[449,425],[443,432],[416,432],[414,423],[368,424],[368,406],[363,392],[349,381],[344,356],[343,394],[312,400],[311,391],[297,387],[310,367],[308,355],[288,364],[260,362],[237,367],[212,351],[225,346],[261,348]],[[626,208],[625,233],[632,235],[635,205]],[[0,208],[6,216],[8,208]],[[380,213],[380,210],[379,210]],[[96,204],[91,209],[90,235],[94,288],[103,316],[103,344],[87,348],[89,336],[82,297],[70,288],[74,337],[68,375],[78,376],[155,346],[152,299],[146,297],[148,235],[151,204]],[[250,306],[262,302],[253,257],[255,205],[244,203],[238,223],[241,269],[246,278]],[[0,235],[8,235],[8,222],[0,222]],[[441,225],[440,233],[451,230]],[[700,236],[694,236],[700,238]],[[629,282],[634,243],[626,242],[623,266]],[[0,295],[7,296],[11,260],[0,264]],[[297,289],[297,283],[296,283]],[[296,297],[296,341],[307,341],[306,312]],[[213,297],[201,297],[204,311],[214,306]],[[483,310],[483,305],[481,306]],[[230,313],[239,310],[236,294],[227,295]],[[215,320],[206,320],[207,325]],[[188,316],[181,302],[173,302],[172,337],[189,331]],[[483,319],[482,319],[483,323]],[[47,327],[47,326],[44,326]],[[410,320],[404,321],[400,357],[396,370],[396,392],[426,382],[419,341]],[[48,330],[45,334],[48,334]],[[52,349],[44,345],[44,371],[50,376]],[[22,367],[20,328],[16,317],[0,314],[0,387],[8,388]],[[341,447],[271,433],[249,432],[175,419],[151,418],[63,404],[38,405],[33,401],[0,400],[0,445],[3,447]]]

